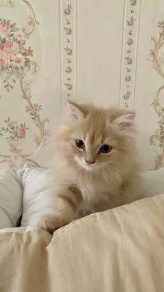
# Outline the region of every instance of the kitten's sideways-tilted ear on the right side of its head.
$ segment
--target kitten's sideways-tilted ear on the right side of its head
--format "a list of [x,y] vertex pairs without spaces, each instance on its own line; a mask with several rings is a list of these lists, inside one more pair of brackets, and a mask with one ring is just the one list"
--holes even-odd
[[120,110],[117,112],[113,123],[124,133],[134,133],[135,131],[135,115],[134,111]]

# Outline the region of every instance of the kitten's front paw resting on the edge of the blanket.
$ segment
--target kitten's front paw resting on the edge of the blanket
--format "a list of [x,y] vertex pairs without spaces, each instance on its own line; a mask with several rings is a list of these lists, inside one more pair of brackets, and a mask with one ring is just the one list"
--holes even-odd
[[67,225],[68,222],[64,218],[58,215],[47,215],[44,216],[38,223],[40,229],[44,229],[50,234],[53,234],[55,230],[60,227]]

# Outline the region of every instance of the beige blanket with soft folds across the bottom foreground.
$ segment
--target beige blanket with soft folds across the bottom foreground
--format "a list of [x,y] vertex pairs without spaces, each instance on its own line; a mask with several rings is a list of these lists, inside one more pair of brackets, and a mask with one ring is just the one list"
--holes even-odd
[[0,232],[1,292],[163,292],[164,195],[59,229]]

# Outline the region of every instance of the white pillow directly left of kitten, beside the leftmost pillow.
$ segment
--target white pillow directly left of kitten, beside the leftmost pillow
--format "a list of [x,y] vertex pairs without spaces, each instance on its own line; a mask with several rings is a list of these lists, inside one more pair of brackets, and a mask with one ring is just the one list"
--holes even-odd
[[22,173],[23,212],[21,226],[34,226],[45,213],[52,210],[54,172],[47,168],[27,166]]

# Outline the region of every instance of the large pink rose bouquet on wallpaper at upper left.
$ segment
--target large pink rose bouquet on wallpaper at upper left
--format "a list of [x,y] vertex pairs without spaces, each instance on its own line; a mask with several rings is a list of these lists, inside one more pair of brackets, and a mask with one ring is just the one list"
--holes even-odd
[[[16,83],[15,77],[19,79],[31,69],[31,56],[33,56],[33,50],[31,47],[25,47],[26,40],[22,40],[22,34],[17,33],[19,29],[15,23],[10,24],[10,20],[5,19],[2,23],[0,17],[0,26],[2,26],[2,24],[3,29],[4,27],[10,26],[9,33],[4,37],[2,37],[0,31],[1,78],[3,79],[4,88],[10,91],[10,89],[13,89],[14,83]],[[37,63],[36,65],[38,66]],[[32,67],[35,67],[35,65],[32,65]],[[38,70],[38,68],[33,69],[36,71]]]

